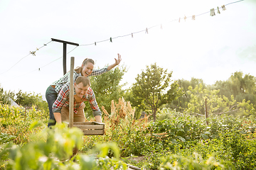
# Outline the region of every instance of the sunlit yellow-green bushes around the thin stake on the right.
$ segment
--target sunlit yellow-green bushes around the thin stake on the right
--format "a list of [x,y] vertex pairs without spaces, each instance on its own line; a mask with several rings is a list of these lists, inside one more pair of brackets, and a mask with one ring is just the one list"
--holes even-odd
[[199,84],[193,89],[188,87],[187,93],[191,96],[188,107],[185,108],[187,113],[195,113],[204,115],[207,106],[208,116],[220,114],[236,114],[236,115],[252,115],[255,108],[250,101],[235,101],[234,96],[230,96],[230,100],[226,96],[220,96],[219,90],[203,89],[203,85]]

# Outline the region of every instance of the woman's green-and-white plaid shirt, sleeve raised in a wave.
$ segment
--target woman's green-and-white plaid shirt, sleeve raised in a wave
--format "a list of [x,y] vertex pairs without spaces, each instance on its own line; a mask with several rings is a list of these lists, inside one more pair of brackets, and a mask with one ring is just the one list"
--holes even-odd
[[[102,69],[93,69],[92,74],[90,74],[88,77],[91,76],[98,76],[100,74],[103,74],[105,72],[108,72],[109,70],[107,70],[107,66],[102,68]],[[75,80],[79,77],[82,76],[81,73],[77,73],[74,71],[73,74],[73,80],[75,82]],[[60,93],[60,89],[66,84],[70,82],[70,72],[66,73],[63,77],[61,77],[60,79],[58,79],[57,81],[54,81],[53,84],[50,85],[54,85],[55,86],[55,91],[57,93]]]

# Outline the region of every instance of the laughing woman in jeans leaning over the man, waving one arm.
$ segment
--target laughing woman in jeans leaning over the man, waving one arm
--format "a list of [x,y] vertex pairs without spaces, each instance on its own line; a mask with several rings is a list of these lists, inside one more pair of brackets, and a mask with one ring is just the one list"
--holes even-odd
[[[121,55],[119,54],[117,55],[118,55],[118,58],[114,59],[115,60],[114,64],[111,64],[102,69],[95,69],[95,70],[93,70],[95,62],[92,59],[85,59],[82,62],[81,67],[78,67],[74,70],[73,80],[75,81],[79,76],[84,76],[84,77],[98,76],[100,74],[110,71],[110,69],[117,66],[122,60]],[[60,79],[58,79],[58,81],[55,81],[53,82],[53,84],[50,84],[50,86],[48,86],[48,89],[46,90],[46,101],[48,103],[49,115],[50,115],[48,127],[50,127],[51,125],[55,125],[56,123],[53,115],[53,103],[56,101],[58,97],[58,93],[60,92],[60,89],[64,86],[64,84],[68,83],[69,81],[70,81],[70,72],[65,74]],[[85,106],[83,108],[85,108]]]

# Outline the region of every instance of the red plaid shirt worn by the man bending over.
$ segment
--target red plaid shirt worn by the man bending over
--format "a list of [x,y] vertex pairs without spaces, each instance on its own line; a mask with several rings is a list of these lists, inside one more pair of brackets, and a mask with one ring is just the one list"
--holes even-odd
[[[75,94],[75,89],[74,89]],[[53,113],[61,113],[61,108],[69,108],[69,97],[70,97],[70,86],[69,83],[65,84],[58,94],[57,100],[53,103]],[[77,102],[74,100],[74,112],[78,113],[78,108],[82,106],[83,101],[89,101],[90,108],[92,108],[93,115],[101,115],[99,106],[95,98],[95,94],[92,89],[89,87],[87,93],[82,96],[82,101]]]

